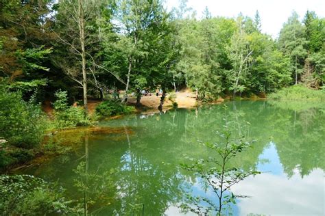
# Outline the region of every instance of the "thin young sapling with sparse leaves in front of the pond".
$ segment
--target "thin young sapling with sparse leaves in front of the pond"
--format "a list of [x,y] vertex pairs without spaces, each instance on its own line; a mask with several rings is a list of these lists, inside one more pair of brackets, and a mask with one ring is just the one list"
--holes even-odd
[[197,178],[203,180],[203,189],[210,189],[215,194],[217,204],[206,197],[186,196],[186,202],[181,205],[184,211],[191,211],[198,215],[215,213],[222,215],[226,206],[230,203],[235,204],[236,198],[245,198],[244,195],[234,195],[231,187],[248,176],[260,174],[256,170],[245,171],[241,167],[232,167],[231,159],[240,152],[252,147],[252,142],[244,141],[243,137],[235,138],[232,136],[230,126],[224,126],[226,131],[219,133],[221,143],[205,144],[210,148],[215,156],[208,159],[198,159],[191,165],[182,164],[184,170],[193,172]]

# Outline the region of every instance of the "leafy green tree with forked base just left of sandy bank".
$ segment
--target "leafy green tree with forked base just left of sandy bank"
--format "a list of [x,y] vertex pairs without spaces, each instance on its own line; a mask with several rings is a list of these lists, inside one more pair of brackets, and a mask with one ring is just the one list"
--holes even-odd
[[136,104],[139,105],[140,90],[148,85],[158,85],[149,81],[156,76],[157,68],[162,69],[170,62],[166,60],[166,47],[163,46],[170,47],[167,42],[171,33],[169,14],[163,9],[160,0],[121,0],[118,5],[119,40],[116,48],[127,63],[122,63],[126,78],[123,100],[128,99],[127,94],[132,85],[137,92]]

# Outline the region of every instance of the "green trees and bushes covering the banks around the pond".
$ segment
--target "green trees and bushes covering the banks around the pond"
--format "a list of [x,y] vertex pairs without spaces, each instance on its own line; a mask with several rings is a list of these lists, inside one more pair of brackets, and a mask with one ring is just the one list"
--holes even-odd
[[[303,18],[293,12],[272,38],[262,32],[257,11],[254,17],[227,18],[206,9],[197,18],[184,0],[172,10],[160,0],[3,0],[0,170],[47,152],[68,152],[69,147],[47,138],[134,113],[147,94],[157,93],[160,111],[166,98],[176,109],[175,92],[182,89],[191,90],[200,103],[265,95],[324,101],[324,83],[325,18],[315,12],[306,11]],[[88,99],[99,105],[91,110]],[[40,187],[21,183],[25,178]],[[0,211],[68,209],[53,206],[61,198],[41,180],[2,176],[0,185],[8,181],[18,184],[15,190],[33,190],[19,202],[3,197],[9,201],[1,201]],[[38,204],[28,210],[28,201]]]

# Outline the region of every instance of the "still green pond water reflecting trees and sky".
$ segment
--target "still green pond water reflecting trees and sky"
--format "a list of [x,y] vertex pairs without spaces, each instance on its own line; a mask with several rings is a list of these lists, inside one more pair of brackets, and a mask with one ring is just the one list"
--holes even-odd
[[72,154],[24,172],[58,180],[70,197],[82,198],[73,186],[77,178],[73,169],[86,161],[88,173],[108,177],[95,185],[108,192],[89,195],[97,201],[90,212],[182,215],[178,206],[186,193],[215,198],[179,165],[188,163],[187,157],[211,154],[200,141],[217,141],[216,132],[224,129],[226,121],[234,125],[234,135],[256,139],[254,148],[240,154],[232,165],[263,172],[232,187],[235,194],[250,196],[232,204],[234,215],[324,215],[324,104],[240,101],[226,105],[227,111],[222,105],[211,105],[101,122],[115,130],[90,133],[88,138],[75,133]]

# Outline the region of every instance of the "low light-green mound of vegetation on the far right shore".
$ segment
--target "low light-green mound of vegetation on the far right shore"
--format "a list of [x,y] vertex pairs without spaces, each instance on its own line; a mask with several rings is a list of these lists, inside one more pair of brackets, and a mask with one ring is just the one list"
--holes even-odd
[[303,85],[293,85],[269,94],[268,98],[274,100],[325,100],[325,92],[312,90]]

